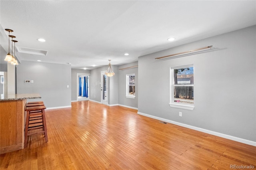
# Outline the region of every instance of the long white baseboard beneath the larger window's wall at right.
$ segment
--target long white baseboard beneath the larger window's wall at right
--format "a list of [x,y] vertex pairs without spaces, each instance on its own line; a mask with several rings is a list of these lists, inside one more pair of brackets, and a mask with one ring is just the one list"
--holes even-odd
[[186,124],[178,123],[178,122],[175,122],[175,121],[170,121],[168,119],[163,119],[163,118],[148,115],[148,114],[145,114],[145,113],[140,113],[140,112],[137,112],[137,113],[138,113],[138,115],[142,115],[142,116],[150,117],[150,118],[157,119],[157,120],[160,120],[160,121],[172,123],[174,125],[178,125],[178,126],[181,126],[181,127],[190,128],[190,129],[197,130],[197,131],[200,131],[200,132],[204,132],[204,133],[212,134],[212,135],[219,136],[219,137],[222,137],[222,138],[234,140],[236,142],[241,142],[241,143],[244,143],[244,144],[249,144],[249,145],[252,145],[252,146],[256,146],[256,142],[251,141],[251,140],[242,139],[242,138],[238,138],[238,137],[235,137],[235,136],[230,136],[228,134],[222,134],[222,133],[219,133],[219,132],[214,132],[214,131],[207,130],[207,129],[204,129],[204,128],[194,127],[194,126],[191,126],[191,125],[186,125]]

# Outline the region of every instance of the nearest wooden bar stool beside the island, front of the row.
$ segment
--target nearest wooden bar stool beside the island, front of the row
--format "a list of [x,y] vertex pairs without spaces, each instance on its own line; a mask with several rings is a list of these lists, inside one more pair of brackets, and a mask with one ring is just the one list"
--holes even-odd
[[42,104],[34,106],[33,104],[27,104],[26,111],[26,126],[25,126],[25,141],[24,147],[28,144],[28,136],[37,133],[43,133],[45,142],[48,142],[47,128],[44,109],[46,107]]

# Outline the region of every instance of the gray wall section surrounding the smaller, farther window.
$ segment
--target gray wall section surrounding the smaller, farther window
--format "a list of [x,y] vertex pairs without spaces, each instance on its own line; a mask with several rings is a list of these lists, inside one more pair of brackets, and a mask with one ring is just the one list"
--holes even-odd
[[[118,69],[138,65],[138,61],[119,65]],[[126,74],[135,73],[135,98],[126,97]],[[138,67],[118,71],[118,104],[138,108]]]

